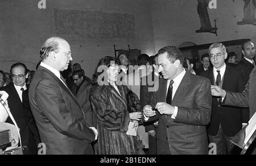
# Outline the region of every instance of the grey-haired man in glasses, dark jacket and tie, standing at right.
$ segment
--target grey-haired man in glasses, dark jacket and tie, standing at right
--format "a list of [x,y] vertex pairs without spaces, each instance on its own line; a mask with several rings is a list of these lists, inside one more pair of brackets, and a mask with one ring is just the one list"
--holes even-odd
[[[232,92],[242,92],[246,84],[241,69],[235,69],[225,64],[228,56],[222,43],[210,45],[209,59],[213,68],[201,75],[209,78],[212,85]],[[235,153],[233,145],[229,141],[242,128],[242,123],[247,123],[243,118],[242,109],[220,105],[220,97],[212,97],[212,116],[208,124],[208,136],[210,143],[216,143],[217,155]],[[232,151],[233,150],[233,151]]]

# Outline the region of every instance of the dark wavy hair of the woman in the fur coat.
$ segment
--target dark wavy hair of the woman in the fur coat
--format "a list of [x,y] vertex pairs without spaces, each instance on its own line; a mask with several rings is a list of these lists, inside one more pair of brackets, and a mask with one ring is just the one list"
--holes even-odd
[[[98,76],[100,76],[100,74],[105,72],[104,67],[105,68],[109,68],[113,64],[117,64],[117,60],[114,57],[112,57],[112,56],[105,56],[105,57],[103,57],[99,61],[98,65],[97,65],[97,68],[96,68],[96,71],[93,74],[93,77],[92,77],[93,84],[98,84]],[[102,69],[102,70],[100,70],[100,69]],[[102,81],[104,81],[104,80],[102,80]]]

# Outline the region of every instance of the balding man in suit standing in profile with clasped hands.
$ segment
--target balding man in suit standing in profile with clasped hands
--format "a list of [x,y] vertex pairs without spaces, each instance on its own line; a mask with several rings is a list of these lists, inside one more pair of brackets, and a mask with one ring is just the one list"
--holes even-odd
[[42,63],[31,82],[28,97],[46,154],[93,154],[97,130],[89,127],[76,98],[60,71],[72,60],[67,41],[46,40],[40,51]]

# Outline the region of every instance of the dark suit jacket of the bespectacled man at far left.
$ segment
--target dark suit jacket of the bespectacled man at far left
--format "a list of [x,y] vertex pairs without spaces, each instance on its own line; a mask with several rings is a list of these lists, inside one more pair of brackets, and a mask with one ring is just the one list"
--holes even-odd
[[[9,97],[7,98],[7,102],[8,102],[11,114],[13,114],[13,117],[20,129],[22,146],[28,146],[30,130],[28,129],[28,125],[26,123],[26,115],[24,114],[22,101],[19,98],[19,94],[16,91],[13,83],[5,87],[2,87],[0,90],[3,90],[9,94]],[[13,121],[11,121],[10,117],[7,118],[6,122],[13,124]]]

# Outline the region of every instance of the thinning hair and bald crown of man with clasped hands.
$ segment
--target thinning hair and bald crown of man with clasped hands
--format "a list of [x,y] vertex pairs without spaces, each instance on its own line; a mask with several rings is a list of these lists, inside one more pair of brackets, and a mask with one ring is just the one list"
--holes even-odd
[[59,52],[59,40],[64,40],[60,37],[52,37],[44,42],[41,50],[40,50],[40,57],[42,60],[47,59],[49,53],[52,51]]

